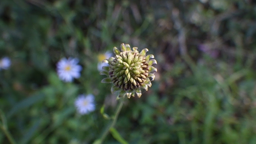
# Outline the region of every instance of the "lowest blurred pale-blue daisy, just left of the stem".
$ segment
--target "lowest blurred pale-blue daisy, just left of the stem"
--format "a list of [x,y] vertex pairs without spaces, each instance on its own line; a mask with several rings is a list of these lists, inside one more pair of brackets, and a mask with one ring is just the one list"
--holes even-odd
[[81,114],[88,114],[95,110],[94,96],[92,94],[84,95],[81,94],[75,101],[77,111]]

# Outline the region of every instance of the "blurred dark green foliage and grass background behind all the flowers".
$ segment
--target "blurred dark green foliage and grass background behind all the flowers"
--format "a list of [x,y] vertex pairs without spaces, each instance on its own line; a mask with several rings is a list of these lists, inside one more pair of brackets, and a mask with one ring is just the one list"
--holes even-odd
[[[121,43],[148,48],[158,72],[140,99],[125,101],[104,143],[255,144],[256,5],[253,0],[1,0],[0,108],[19,144],[92,143],[116,95],[100,83],[100,53]],[[56,63],[77,57],[73,83]],[[96,110],[79,115],[78,94]],[[3,120],[1,122],[3,124]],[[0,132],[0,143],[9,143]]]

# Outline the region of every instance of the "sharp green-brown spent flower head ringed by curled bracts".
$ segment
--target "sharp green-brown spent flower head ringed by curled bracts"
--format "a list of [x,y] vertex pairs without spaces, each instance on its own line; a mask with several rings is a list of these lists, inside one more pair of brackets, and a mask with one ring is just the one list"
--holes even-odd
[[[140,98],[141,89],[146,91],[151,87],[151,81],[154,80],[154,72],[156,68],[152,67],[156,64],[154,55],[146,56],[148,49],[143,49],[141,52],[137,51],[137,47],[131,49],[129,44],[121,44],[121,52],[114,47],[115,57],[103,60],[109,66],[103,66],[101,75],[108,76],[104,78],[102,83],[113,83],[111,92],[119,92],[119,97],[126,95],[128,98],[131,95],[134,97],[136,93]],[[151,59],[151,60],[149,60]],[[149,79],[149,77],[151,77]]]

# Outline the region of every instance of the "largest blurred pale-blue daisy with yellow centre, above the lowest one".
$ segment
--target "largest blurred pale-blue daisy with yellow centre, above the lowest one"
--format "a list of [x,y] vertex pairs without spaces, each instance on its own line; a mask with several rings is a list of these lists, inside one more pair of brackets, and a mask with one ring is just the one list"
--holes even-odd
[[57,73],[64,82],[72,82],[74,78],[79,78],[82,67],[78,65],[77,58],[62,58],[57,63]]

